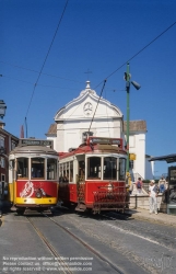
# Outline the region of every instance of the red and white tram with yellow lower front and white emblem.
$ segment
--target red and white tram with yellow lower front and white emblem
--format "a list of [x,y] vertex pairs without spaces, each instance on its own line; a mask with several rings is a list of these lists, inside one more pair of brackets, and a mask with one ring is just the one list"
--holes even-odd
[[21,139],[9,156],[10,202],[17,214],[45,210],[58,202],[58,152],[52,141]]

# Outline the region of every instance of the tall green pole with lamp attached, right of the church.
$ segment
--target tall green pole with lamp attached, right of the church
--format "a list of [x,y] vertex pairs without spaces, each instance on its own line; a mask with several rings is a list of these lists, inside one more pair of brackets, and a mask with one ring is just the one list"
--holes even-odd
[[[129,121],[130,121],[130,66],[129,62],[127,62],[127,72],[125,72],[124,79],[126,80],[126,91],[127,91],[127,179],[129,184],[130,173],[129,173]],[[139,90],[141,85],[137,83],[136,81],[131,81],[132,85]]]

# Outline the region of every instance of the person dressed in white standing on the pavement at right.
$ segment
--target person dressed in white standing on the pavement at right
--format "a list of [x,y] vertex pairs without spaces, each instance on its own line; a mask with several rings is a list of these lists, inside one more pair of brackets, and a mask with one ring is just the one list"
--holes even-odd
[[159,187],[155,185],[155,181],[150,181],[149,186],[149,206],[150,206],[150,214],[155,213],[157,214],[157,194]]

